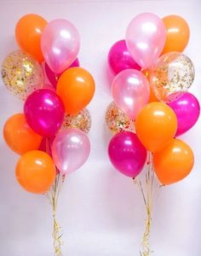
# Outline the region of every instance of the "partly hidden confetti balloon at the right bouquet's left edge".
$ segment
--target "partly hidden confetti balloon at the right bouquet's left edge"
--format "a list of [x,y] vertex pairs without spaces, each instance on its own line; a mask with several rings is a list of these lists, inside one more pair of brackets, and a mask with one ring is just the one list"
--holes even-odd
[[113,134],[120,131],[135,131],[134,120],[120,110],[115,102],[106,109],[106,125]]

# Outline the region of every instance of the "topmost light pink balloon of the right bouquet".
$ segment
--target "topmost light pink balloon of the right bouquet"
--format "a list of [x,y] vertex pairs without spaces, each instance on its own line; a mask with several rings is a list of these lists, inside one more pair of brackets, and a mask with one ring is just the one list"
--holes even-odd
[[164,49],[164,22],[157,15],[137,15],[130,21],[125,38],[129,53],[138,65],[143,68],[152,67]]

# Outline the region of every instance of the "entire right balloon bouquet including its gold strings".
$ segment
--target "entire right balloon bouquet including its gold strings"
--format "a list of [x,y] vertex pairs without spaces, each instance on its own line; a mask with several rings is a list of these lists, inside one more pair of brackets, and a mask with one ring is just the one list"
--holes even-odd
[[[159,185],[176,183],[191,172],[192,149],[177,137],[198,120],[198,99],[187,92],[194,79],[187,46],[186,20],[169,15],[135,16],[125,40],[112,45],[108,63],[116,75],[106,125],[114,137],[108,154],[112,165],[138,184],[146,206],[141,255],[150,250],[152,202]],[[147,155],[146,155],[147,154]],[[146,164],[146,171],[139,177]],[[160,185],[160,186],[161,186]]]

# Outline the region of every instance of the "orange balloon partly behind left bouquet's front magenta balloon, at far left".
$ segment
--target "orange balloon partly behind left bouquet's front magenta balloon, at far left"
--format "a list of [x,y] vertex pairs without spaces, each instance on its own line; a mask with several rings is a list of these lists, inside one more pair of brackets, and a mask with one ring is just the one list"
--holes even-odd
[[32,131],[26,123],[23,113],[16,113],[6,121],[3,127],[3,137],[9,148],[17,154],[24,154],[39,148],[42,141],[42,137]]

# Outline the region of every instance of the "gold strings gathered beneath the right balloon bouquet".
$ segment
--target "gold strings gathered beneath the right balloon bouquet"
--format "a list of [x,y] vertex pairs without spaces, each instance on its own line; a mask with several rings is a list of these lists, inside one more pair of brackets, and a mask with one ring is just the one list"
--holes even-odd
[[144,183],[141,182],[140,177],[134,178],[134,182],[137,183],[138,185],[138,188],[141,192],[142,199],[146,207],[145,230],[144,230],[142,241],[141,241],[141,251],[140,251],[141,256],[150,256],[150,254],[153,253],[150,248],[150,235],[151,235],[151,226],[152,226],[152,204],[154,201],[154,192],[156,192],[154,191],[155,182],[156,182],[156,179],[154,177],[155,177],[155,174],[152,166],[152,153],[149,153]]

